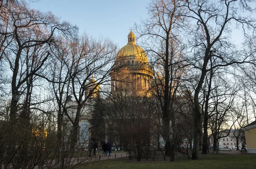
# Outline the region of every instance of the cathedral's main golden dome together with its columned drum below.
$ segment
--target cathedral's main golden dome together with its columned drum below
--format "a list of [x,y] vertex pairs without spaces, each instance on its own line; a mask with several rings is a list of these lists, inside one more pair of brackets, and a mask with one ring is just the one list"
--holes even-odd
[[111,75],[111,93],[122,96],[148,96],[148,89],[154,72],[148,65],[148,58],[135,43],[135,35],[128,34],[128,43],[122,47],[115,59],[116,73]]

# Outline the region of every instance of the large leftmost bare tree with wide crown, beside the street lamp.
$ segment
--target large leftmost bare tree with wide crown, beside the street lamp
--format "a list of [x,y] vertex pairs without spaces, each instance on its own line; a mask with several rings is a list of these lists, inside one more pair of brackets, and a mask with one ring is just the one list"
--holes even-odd
[[[9,126],[5,125],[8,131],[6,146],[10,151],[5,158],[5,163],[15,164],[24,158],[27,159],[29,153],[26,151],[31,141],[32,126],[30,125],[32,110],[36,110],[38,102],[32,92],[38,83],[36,73],[44,70],[44,65],[50,57],[49,45],[55,33],[67,33],[74,30],[68,23],[59,23],[51,13],[41,13],[29,9],[23,1],[9,1],[5,7],[1,8],[1,62],[9,65],[11,73],[11,106],[9,111]],[[3,14],[3,15],[2,15]],[[38,81],[39,82],[39,81]],[[14,93],[22,90],[26,93],[22,107],[18,110],[17,100]],[[23,132],[17,129],[23,129]],[[15,147],[19,147],[17,150]],[[6,151],[6,150],[5,150]],[[18,153],[17,153],[18,152]],[[17,158],[19,155],[20,158]],[[26,156],[26,157],[25,157]],[[7,164],[8,166],[9,164]]]

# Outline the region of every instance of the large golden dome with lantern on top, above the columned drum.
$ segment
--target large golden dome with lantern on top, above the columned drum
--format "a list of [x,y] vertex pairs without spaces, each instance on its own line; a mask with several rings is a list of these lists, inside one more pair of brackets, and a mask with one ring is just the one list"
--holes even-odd
[[122,47],[116,55],[116,59],[121,59],[126,56],[134,56],[134,59],[138,59],[142,62],[148,62],[145,51],[143,51],[140,46],[135,43],[135,35],[131,31],[128,34],[128,43],[124,47]]

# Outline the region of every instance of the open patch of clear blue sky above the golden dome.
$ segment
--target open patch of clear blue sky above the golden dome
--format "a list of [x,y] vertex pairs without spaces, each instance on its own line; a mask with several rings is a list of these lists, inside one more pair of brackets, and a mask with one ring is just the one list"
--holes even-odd
[[151,0],[41,0],[30,8],[52,11],[61,20],[79,27],[79,33],[92,37],[108,37],[122,47],[134,23],[147,18]]

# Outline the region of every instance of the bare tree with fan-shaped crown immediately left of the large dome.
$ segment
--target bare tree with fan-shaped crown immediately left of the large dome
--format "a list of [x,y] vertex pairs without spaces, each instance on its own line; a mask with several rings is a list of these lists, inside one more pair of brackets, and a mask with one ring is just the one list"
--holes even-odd
[[[115,72],[112,67],[115,51],[116,46],[110,40],[90,39],[86,34],[73,42],[72,64],[69,68],[71,89],[77,104],[75,118],[71,121],[73,130],[70,146],[73,149],[78,141],[81,110],[87,99],[95,93],[95,89],[99,85],[107,85],[111,72]],[[96,78],[96,81],[91,80],[92,76]]]

